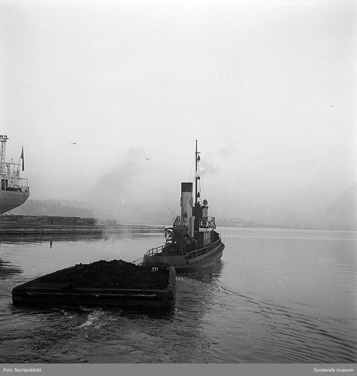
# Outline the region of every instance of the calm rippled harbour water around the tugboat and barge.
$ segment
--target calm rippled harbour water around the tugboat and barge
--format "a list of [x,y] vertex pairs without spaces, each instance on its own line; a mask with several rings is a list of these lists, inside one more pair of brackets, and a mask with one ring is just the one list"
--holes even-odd
[[221,228],[221,262],[178,274],[172,312],[19,308],[11,290],[52,271],[134,261],[163,232],[0,244],[0,362],[357,362],[357,232]]

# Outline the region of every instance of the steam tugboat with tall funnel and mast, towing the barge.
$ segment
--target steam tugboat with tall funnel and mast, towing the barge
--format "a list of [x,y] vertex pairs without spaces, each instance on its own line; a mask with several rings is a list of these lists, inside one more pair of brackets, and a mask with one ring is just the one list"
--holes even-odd
[[214,217],[208,217],[207,200],[201,204],[200,153],[196,140],[195,203],[193,183],[181,183],[181,216],[165,229],[166,244],[148,250],[141,265],[174,266],[186,271],[218,262],[224,250],[221,235],[216,232]]

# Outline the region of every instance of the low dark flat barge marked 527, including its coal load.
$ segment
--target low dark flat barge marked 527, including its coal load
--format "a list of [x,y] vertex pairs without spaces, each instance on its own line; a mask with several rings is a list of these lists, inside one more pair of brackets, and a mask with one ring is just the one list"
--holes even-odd
[[[175,295],[173,267],[144,267],[113,260],[106,262],[106,268],[97,265],[91,270],[91,265],[103,262],[106,261],[78,264],[26,282],[12,290],[12,302],[16,306],[172,307]],[[113,262],[132,266],[124,265],[126,273],[115,277],[115,264],[110,265]],[[112,274],[108,273],[110,270]],[[115,288],[128,287],[128,284],[135,288]],[[83,285],[85,287],[78,287]]]

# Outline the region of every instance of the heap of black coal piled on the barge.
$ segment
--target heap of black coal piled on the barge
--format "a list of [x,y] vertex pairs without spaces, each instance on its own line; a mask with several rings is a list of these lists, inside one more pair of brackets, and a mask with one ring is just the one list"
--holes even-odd
[[77,265],[67,274],[42,282],[71,284],[74,288],[108,288],[108,289],[152,289],[165,288],[168,285],[166,273],[146,270],[123,260],[96,261],[91,264]]

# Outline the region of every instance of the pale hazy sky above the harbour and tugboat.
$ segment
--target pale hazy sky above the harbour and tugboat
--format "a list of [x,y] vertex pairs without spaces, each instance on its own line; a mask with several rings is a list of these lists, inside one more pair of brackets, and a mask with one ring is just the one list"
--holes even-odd
[[30,199],[179,214],[197,139],[209,215],[316,222],[357,182],[356,10],[5,1],[6,161]]

